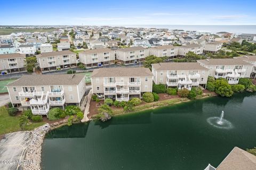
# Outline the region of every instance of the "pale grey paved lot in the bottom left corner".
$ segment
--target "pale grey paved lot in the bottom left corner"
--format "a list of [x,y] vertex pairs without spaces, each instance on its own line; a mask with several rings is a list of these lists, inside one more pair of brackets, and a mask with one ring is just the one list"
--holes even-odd
[[0,169],[22,169],[28,143],[32,132],[7,133],[0,141]]

